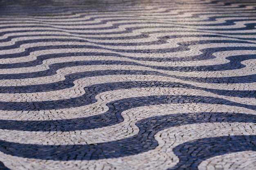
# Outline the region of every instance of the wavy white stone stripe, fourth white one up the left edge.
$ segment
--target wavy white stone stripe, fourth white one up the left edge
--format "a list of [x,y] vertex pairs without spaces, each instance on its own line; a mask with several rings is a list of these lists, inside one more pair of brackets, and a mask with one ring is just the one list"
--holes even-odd
[[[134,76],[134,75],[133,75]],[[49,91],[49,92],[37,92],[37,93],[16,93],[16,94],[6,94],[6,93],[0,93],[0,102],[41,102],[41,101],[48,101],[48,100],[59,100],[59,99],[70,99],[70,98],[74,98],[74,97],[79,97],[81,95],[85,94],[85,91],[83,90],[84,86],[90,86],[92,84],[100,84],[102,82],[107,83],[107,82],[117,82],[120,80],[123,80],[122,82],[125,81],[125,78],[130,78],[131,76],[117,76],[117,79],[114,79],[115,76],[101,76],[103,77],[103,79],[99,79],[99,77],[94,77],[94,79],[92,79],[92,82],[89,82],[88,78],[83,78],[83,79],[79,79],[77,81],[75,81],[77,84],[76,86],[73,86],[72,88],[66,88],[64,90],[59,90],[59,91]],[[113,77],[113,78],[111,78]],[[135,76],[134,76],[135,77]],[[128,79],[128,81],[152,81],[152,78],[150,76],[148,76],[149,79],[146,79],[146,76],[144,79]],[[97,78],[99,79],[97,81]],[[104,81],[103,81],[104,80]],[[108,81],[106,81],[108,80]],[[158,79],[156,79],[158,80]],[[158,80],[159,81],[159,80]],[[87,84],[85,84],[85,82],[88,82]],[[190,82],[190,84],[193,84]],[[155,88],[154,88],[155,89]],[[158,89],[158,88],[157,88]],[[159,88],[161,89],[161,88]],[[180,91],[179,88],[166,88],[168,89],[167,91]],[[166,90],[165,88],[163,88],[163,90]],[[124,90],[126,91],[126,90]],[[136,91],[136,90],[135,90]],[[149,90],[150,91],[150,90]],[[158,90],[156,90],[158,91]],[[193,92],[189,92],[189,91],[193,91]],[[243,104],[256,104],[256,99],[252,99],[252,98],[243,98],[241,99],[240,97],[226,97],[226,96],[222,96],[222,95],[216,95],[214,93],[210,93],[210,92],[206,92],[206,91],[202,91],[202,90],[191,90],[191,89],[181,89],[180,94],[188,94],[188,95],[195,95],[195,94],[207,94],[209,96],[213,96],[213,97],[220,97],[223,99],[228,99],[231,100],[233,102],[239,102],[239,103],[243,103]]]

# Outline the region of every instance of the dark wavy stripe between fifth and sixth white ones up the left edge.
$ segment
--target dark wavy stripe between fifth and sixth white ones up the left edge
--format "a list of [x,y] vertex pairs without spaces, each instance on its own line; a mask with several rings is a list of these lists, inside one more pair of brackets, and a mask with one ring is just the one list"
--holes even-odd
[[[45,71],[37,71],[31,73],[17,73],[17,74],[0,74],[0,79],[21,79],[21,78],[32,78],[32,77],[44,77],[55,75],[56,71],[61,68],[67,68],[72,66],[88,66],[88,65],[132,65],[132,66],[144,66],[148,68],[165,70],[165,71],[225,71],[225,70],[235,70],[238,68],[244,68],[245,65],[240,62],[244,60],[256,59],[256,55],[240,55],[227,57],[228,62],[226,64],[217,64],[209,66],[149,66],[145,64],[139,64],[136,62],[126,62],[126,61],[115,61],[115,60],[93,60],[93,61],[77,61],[77,62],[64,62],[57,64],[50,64],[49,69]],[[85,59],[86,60],[86,59]],[[21,64],[20,64],[21,65]]]

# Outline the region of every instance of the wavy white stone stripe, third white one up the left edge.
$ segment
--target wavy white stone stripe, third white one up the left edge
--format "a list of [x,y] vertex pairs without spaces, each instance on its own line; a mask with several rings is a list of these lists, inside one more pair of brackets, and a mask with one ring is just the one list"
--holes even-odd
[[[97,102],[94,104],[80,106],[75,108],[63,108],[52,110],[34,110],[34,111],[7,111],[1,110],[1,119],[7,120],[53,120],[53,119],[72,119],[77,117],[87,117],[99,115],[108,110],[106,104],[115,100],[126,99],[129,97],[146,97],[152,95],[200,95],[202,97],[218,97],[231,102],[241,103],[245,105],[256,105],[256,99],[229,97],[216,95],[214,93],[205,92],[195,89],[183,88],[130,88],[115,91],[107,91],[95,96]],[[19,99],[16,99],[19,102]]]

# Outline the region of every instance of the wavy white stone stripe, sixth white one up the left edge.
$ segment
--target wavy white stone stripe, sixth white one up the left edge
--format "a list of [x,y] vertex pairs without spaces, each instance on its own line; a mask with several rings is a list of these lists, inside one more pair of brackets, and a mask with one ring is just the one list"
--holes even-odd
[[43,64],[31,67],[20,67],[20,68],[3,68],[0,69],[0,74],[18,74],[18,73],[32,73],[36,71],[44,71],[49,69],[50,64],[63,63],[63,62],[74,62],[74,61],[126,61],[136,62],[138,64],[146,64],[148,66],[209,66],[217,64],[225,64],[230,62],[226,57],[236,55],[254,55],[256,50],[239,50],[239,51],[220,51],[213,53],[212,55],[216,58],[209,60],[197,60],[189,62],[152,62],[152,61],[138,61],[132,60],[125,57],[115,56],[71,56],[71,57],[58,57],[48,60],[43,60]]

